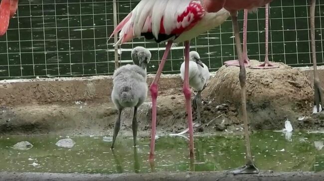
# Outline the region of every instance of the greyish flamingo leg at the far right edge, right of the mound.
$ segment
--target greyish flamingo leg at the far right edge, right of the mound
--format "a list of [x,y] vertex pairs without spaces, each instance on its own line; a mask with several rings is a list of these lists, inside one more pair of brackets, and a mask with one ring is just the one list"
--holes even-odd
[[317,70],[317,60],[316,60],[316,45],[315,45],[315,5],[316,0],[311,0],[311,43],[312,43],[312,59],[314,67],[314,91],[315,91],[315,100],[314,100],[314,113],[319,113],[324,107],[324,97],[323,97],[323,88],[320,83],[319,72]]

